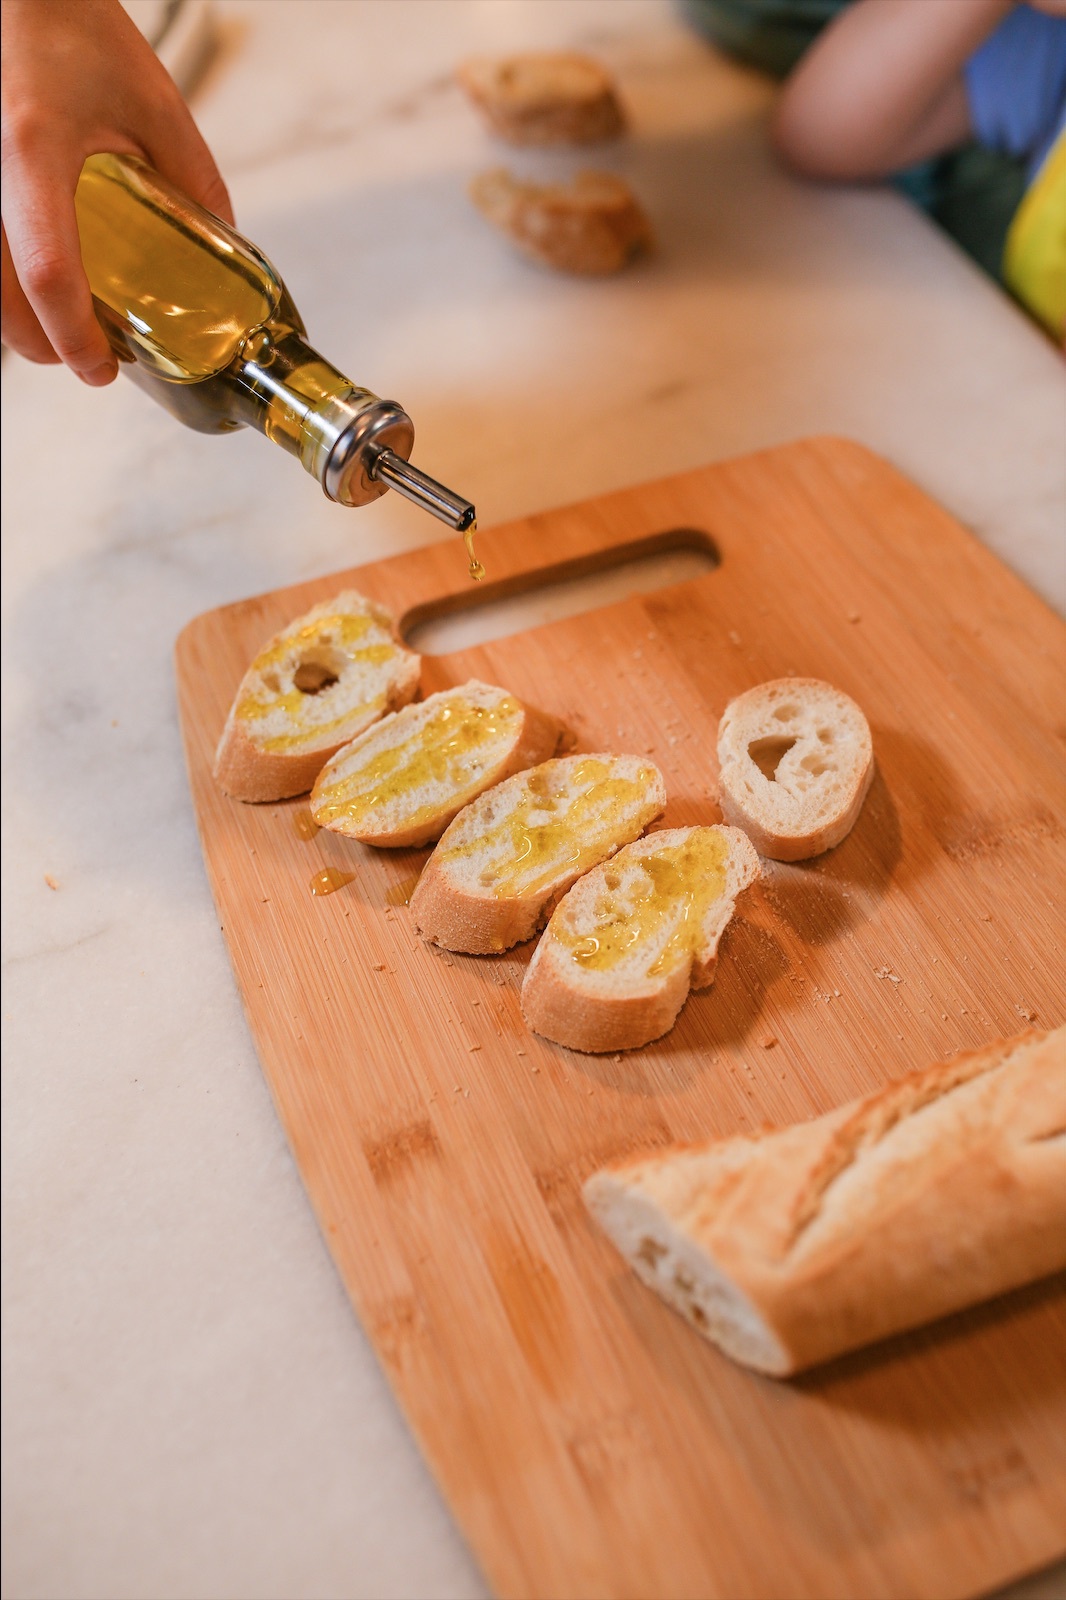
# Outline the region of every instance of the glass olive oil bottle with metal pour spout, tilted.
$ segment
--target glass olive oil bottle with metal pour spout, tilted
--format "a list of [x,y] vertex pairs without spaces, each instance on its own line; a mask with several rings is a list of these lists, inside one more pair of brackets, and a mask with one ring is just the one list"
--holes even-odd
[[410,466],[410,416],[306,342],[280,277],[235,229],[128,155],[91,155],[75,206],[96,315],[123,370],[181,422],[254,427],[341,506],[392,486],[472,533],[471,502]]

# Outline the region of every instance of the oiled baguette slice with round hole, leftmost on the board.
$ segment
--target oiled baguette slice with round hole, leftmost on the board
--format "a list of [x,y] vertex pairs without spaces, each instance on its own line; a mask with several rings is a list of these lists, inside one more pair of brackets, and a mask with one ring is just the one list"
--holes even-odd
[[307,794],[335,750],[418,690],[421,656],[392,616],[354,589],[267,640],[234,698],[214,778],[234,800]]

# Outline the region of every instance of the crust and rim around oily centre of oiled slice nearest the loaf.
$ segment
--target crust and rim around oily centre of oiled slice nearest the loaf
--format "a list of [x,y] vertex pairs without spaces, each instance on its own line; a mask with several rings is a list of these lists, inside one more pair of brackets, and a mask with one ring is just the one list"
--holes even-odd
[[[695,832],[685,827],[650,834],[618,851],[611,858],[611,870],[627,859],[672,848]],[[725,893],[704,925],[703,942],[691,960],[658,978],[597,987],[587,973],[575,966],[570,950],[554,938],[554,922],[549,922],[522,984],[522,1014],[535,1034],[586,1054],[639,1050],[671,1030],[691,990],[714,982],[719,941],[733,917],[736,898],[759,877],[759,861],[739,830],[715,827],[709,832],[728,838],[730,872]],[[570,896],[600,893],[603,872],[605,867],[595,867],[586,874],[562,896],[552,915],[565,912]]]

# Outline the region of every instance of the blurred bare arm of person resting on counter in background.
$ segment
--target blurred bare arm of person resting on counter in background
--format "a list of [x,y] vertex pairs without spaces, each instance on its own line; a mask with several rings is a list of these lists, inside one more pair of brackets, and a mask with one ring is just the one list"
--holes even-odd
[[855,0],[787,80],[778,154],[808,178],[884,178],[970,138],[964,67],[1013,0]]

